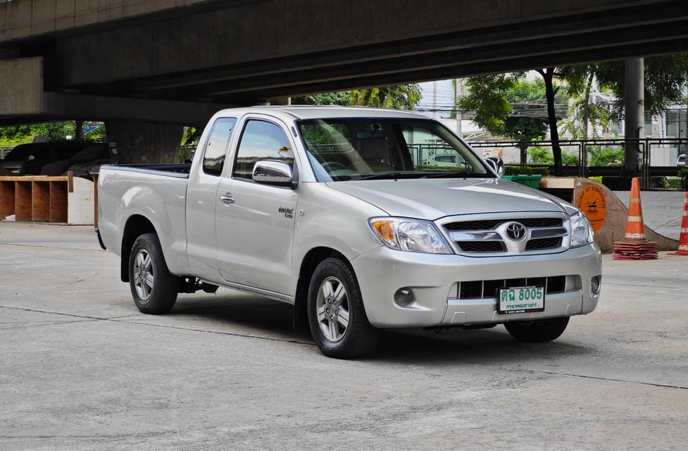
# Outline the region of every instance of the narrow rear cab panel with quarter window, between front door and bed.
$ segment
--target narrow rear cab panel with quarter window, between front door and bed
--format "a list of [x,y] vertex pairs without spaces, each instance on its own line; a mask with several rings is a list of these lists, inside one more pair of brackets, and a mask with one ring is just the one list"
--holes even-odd
[[219,283],[215,242],[215,202],[220,175],[225,166],[227,144],[236,118],[219,118],[213,123],[198,170],[191,172],[187,189],[187,257],[194,276]]

